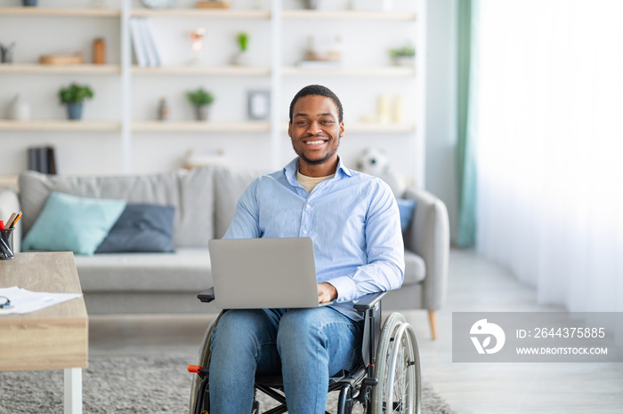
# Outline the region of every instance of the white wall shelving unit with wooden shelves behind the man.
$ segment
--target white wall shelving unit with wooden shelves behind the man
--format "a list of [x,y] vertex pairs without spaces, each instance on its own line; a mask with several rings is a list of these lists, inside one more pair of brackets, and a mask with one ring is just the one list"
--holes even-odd
[[[8,3],[8,1],[6,2]],[[0,6],[0,36],[2,36],[3,19],[20,18],[24,24],[30,22],[33,17],[38,20],[48,19],[67,19],[71,21],[80,19],[111,19],[117,28],[117,38],[107,39],[108,43],[115,46],[118,50],[114,55],[109,55],[111,62],[106,65],[93,65],[85,63],[83,65],[64,65],[50,66],[40,65],[28,61],[16,61],[12,64],[0,64],[0,76],[9,79],[14,76],[20,82],[25,82],[24,76],[36,78],[42,82],[42,78],[49,76],[62,76],[62,79],[69,79],[68,76],[80,76],[87,79],[101,79],[102,76],[111,76],[117,82],[119,93],[117,103],[113,104],[118,111],[118,115],[107,115],[106,119],[85,119],[80,122],[70,122],[63,119],[33,119],[28,122],[17,122],[10,120],[0,121],[0,137],[15,133],[33,132],[42,134],[53,131],[82,131],[93,141],[98,139],[99,133],[107,136],[117,136],[119,138],[118,155],[123,160],[121,170],[118,172],[133,172],[136,155],[134,147],[137,139],[163,139],[167,134],[172,133],[175,139],[182,139],[183,134],[189,136],[193,133],[208,133],[209,139],[244,139],[240,137],[251,137],[256,141],[261,139],[270,147],[270,165],[266,167],[279,168],[283,164],[284,148],[288,146],[286,131],[287,114],[284,107],[287,107],[291,99],[291,90],[298,88],[302,83],[359,83],[361,88],[372,89],[370,85],[383,84],[387,82],[403,82],[406,87],[395,88],[410,102],[409,113],[404,116],[404,121],[400,123],[362,123],[359,119],[352,119],[348,123],[347,131],[356,134],[361,144],[366,146],[367,142],[374,137],[382,137],[384,140],[391,140],[393,135],[400,137],[399,143],[394,145],[394,152],[398,151],[407,160],[403,162],[402,170],[406,175],[415,179],[417,183],[424,182],[424,131],[425,131],[425,0],[415,0],[413,10],[404,12],[385,12],[385,11],[353,11],[353,10],[332,10],[332,11],[311,11],[296,10],[292,4],[284,5],[283,0],[266,0],[264,8],[266,10],[214,10],[214,9],[192,9],[192,8],[169,8],[152,10],[142,8],[136,0],[119,0],[118,7],[112,8],[92,8],[92,7],[11,7]],[[0,0],[0,5],[4,5]],[[295,7],[295,5],[294,5]],[[192,66],[179,61],[165,62],[158,68],[143,68],[133,64],[132,60],[132,41],[130,38],[129,21],[132,17],[146,17],[154,21],[183,21],[188,25],[208,25],[222,20],[237,22],[237,25],[246,27],[249,24],[259,25],[266,37],[255,39],[263,42],[263,48],[270,50],[270,56],[263,57],[259,64],[253,62],[250,66],[230,66],[228,64],[208,62],[205,66]],[[295,25],[296,31],[300,31],[298,38],[303,37],[310,27],[320,23],[331,22],[332,25],[355,24],[360,25],[357,29],[368,31],[376,24],[404,25],[405,37],[412,40],[417,50],[416,66],[414,68],[395,67],[388,62],[376,62],[374,64],[349,64],[344,61],[343,66],[338,68],[302,68],[295,64],[288,54],[287,47],[291,48],[294,36],[291,36],[290,27]],[[255,22],[255,23],[254,23]],[[415,27],[415,28],[414,28]],[[287,33],[286,30],[288,30]],[[224,30],[222,30],[224,31]],[[222,34],[223,35],[223,34]],[[212,36],[216,36],[212,34]],[[0,41],[4,39],[0,37]],[[30,41],[28,38],[18,39],[19,44]],[[116,44],[118,42],[118,44]],[[288,46],[289,45],[289,46]],[[190,47],[190,41],[188,46]],[[300,49],[300,48],[299,48]],[[41,51],[43,54],[44,50]],[[365,47],[360,53],[365,54]],[[386,52],[386,51],[383,51]],[[110,59],[110,57],[112,59]],[[380,63],[380,64],[379,64]],[[247,121],[244,116],[238,119],[228,119],[224,114],[231,111],[223,111],[221,118],[214,116],[208,123],[198,123],[185,119],[171,119],[167,122],[155,121],[146,118],[144,113],[136,110],[137,107],[144,107],[147,104],[142,100],[142,95],[154,86],[171,86],[188,79],[198,79],[204,82],[209,79],[216,84],[231,83],[245,90],[257,89],[268,90],[271,92],[271,117],[265,121]],[[0,78],[0,86],[2,85]],[[150,86],[145,86],[149,84]],[[224,86],[223,86],[224,87]],[[232,88],[233,89],[233,86]],[[358,91],[359,92],[359,91]],[[96,91],[97,93],[97,91]],[[152,92],[153,93],[153,92]],[[337,93],[344,101],[344,96]],[[7,97],[9,98],[9,97]],[[217,95],[217,100],[220,99]],[[352,100],[358,100],[353,98]],[[374,107],[375,98],[368,98],[373,103],[368,102],[368,107]],[[359,103],[359,102],[357,102]],[[153,102],[150,101],[152,105]],[[246,102],[243,102],[246,105]],[[87,104],[89,105],[89,104]],[[229,104],[232,105],[231,103]],[[239,103],[236,104],[240,112]],[[348,112],[352,108],[346,107]],[[233,108],[230,108],[233,109]],[[360,112],[362,109],[359,109]],[[219,137],[218,133],[224,133],[225,138]],[[368,138],[366,138],[368,137]],[[372,138],[370,138],[372,137]],[[357,138],[359,139],[359,138]],[[0,138],[2,140],[2,138]],[[250,141],[246,141],[250,142]],[[158,143],[154,143],[155,151]],[[396,150],[396,147],[400,147]],[[95,151],[97,147],[93,148]],[[244,150],[241,149],[241,150]],[[253,149],[251,149],[252,151]],[[236,156],[236,154],[230,154]],[[294,155],[292,155],[294,156]],[[411,163],[409,165],[409,163]],[[0,171],[0,174],[10,173],[11,171]],[[15,173],[19,171],[14,171]],[[84,171],[89,173],[91,171]]]

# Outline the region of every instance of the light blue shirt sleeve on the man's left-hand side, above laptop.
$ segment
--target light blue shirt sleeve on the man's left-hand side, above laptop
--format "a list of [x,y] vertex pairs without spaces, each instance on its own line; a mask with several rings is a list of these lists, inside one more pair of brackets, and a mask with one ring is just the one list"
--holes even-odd
[[223,239],[254,239],[262,236],[257,203],[257,179],[240,196],[236,212]]

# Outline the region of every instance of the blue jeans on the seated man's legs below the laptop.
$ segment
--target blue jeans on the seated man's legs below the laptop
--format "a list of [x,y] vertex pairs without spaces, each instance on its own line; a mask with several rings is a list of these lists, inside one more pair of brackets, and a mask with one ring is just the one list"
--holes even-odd
[[283,376],[290,414],[324,414],[328,378],[360,362],[362,323],[330,307],[227,311],[212,333],[210,414],[248,414],[256,373]]

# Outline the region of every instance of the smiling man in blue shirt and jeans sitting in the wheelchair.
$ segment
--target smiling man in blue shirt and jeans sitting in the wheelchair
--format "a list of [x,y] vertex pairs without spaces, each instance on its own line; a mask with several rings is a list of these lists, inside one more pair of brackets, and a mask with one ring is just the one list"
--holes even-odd
[[362,315],[353,301],[401,286],[404,248],[392,190],[344,167],[336,94],[304,87],[290,104],[298,155],[247,187],[225,238],[311,237],[319,302],[305,309],[235,309],[212,333],[210,413],[251,411],[255,374],[281,374],[291,414],[324,413],[328,378],[360,362]]

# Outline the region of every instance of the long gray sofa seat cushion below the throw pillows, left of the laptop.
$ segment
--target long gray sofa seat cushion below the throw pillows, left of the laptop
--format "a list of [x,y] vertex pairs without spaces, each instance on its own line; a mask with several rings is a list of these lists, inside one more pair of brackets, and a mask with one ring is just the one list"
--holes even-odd
[[76,256],[82,291],[194,292],[211,288],[207,248],[174,253],[109,253]]

